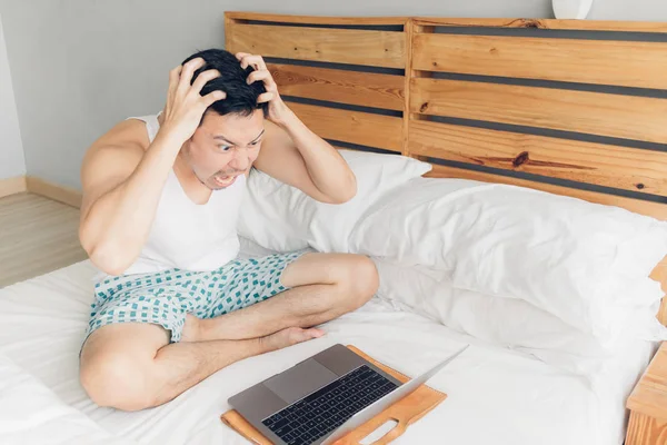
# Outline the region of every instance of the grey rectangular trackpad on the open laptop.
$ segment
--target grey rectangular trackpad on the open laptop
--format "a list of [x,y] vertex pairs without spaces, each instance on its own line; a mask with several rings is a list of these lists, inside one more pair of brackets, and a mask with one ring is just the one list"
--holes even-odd
[[310,358],[265,380],[263,385],[287,404],[292,404],[337,378],[326,366]]

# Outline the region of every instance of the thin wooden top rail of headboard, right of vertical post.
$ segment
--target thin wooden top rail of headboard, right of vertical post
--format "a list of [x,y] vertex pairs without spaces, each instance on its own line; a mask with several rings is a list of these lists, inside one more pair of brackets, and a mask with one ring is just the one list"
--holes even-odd
[[667,32],[667,23],[655,21],[555,20],[555,19],[459,19],[420,17],[418,26],[537,28],[576,31]]

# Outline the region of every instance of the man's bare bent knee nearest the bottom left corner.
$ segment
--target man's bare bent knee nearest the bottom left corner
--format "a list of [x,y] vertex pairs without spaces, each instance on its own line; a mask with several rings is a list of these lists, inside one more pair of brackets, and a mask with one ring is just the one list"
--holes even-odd
[[129,354],[100,352],[86,357],[79,372],[81,385],[99,406],[140,411],[155,406],[150,382],[141,362]]

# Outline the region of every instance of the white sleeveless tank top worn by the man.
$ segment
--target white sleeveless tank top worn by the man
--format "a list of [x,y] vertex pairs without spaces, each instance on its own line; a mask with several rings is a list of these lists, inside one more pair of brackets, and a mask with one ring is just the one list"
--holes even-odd
[[[157,116],[133,117],[146,122],[153,141],[160,123]],[[125,275],[171,268],[208,271],[220,268],[239,254],[236,227],[246,190],[241,175],[229,187],[211,194],[207,204],[192,202],[173,170],[162,189],[146,245]]]

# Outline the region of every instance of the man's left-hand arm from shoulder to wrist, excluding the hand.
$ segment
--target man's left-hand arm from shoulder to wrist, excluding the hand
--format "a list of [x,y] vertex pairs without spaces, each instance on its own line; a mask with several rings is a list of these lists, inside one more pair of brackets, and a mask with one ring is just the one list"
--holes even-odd
[[91,261],[111,275],[139,256],[180,149],[173,138],[158,135],[145,151],[142,127],[137,120],[118,125],[93,144],[81,167],[79,239]]

